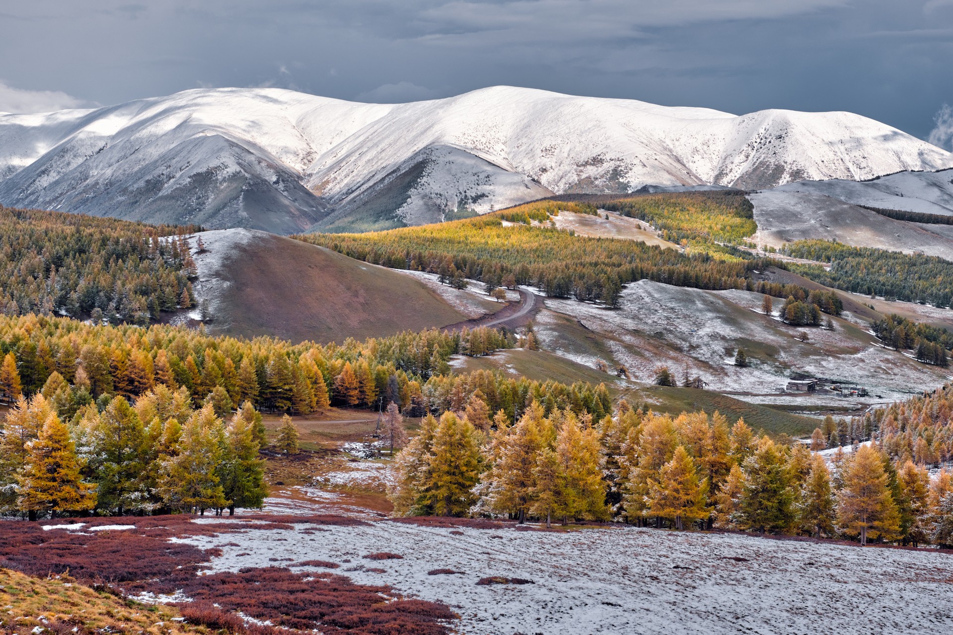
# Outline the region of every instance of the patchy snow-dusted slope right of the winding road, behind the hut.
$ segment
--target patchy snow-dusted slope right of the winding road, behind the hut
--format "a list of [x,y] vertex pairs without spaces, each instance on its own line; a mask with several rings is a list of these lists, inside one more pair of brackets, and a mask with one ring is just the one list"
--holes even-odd
[[[904,358],[876,345],[873,338],[848,331],[847,319],[836,319],[834,331],[804,329],[810,340],[801,342],[795,339],[801,329],[760,313],[762,299],[746,291],[702,291],[640,280],[623,290],[618,310],[572,299],[546,298],[545,304],[599,334],[613,357],[640,381],[651,381],[659,365],[668,365],[679,376],[687,365],[689,373],[700,375],[711,390],[742,393],[739,399],[798,404],[803,395],[783,395],[791,373],[797,371],[864,386],[870,397],[851,399],[869,405],[905,399],[948,379],[942,369]],[[545,312],[537,318],[537,334],[543,348],[553,353],[590,367],[598,359],[560,348],[558,321]],[[739,346],[752,359],[747,368],[734,364]],[[830,399],[840,405],[850,401]]]

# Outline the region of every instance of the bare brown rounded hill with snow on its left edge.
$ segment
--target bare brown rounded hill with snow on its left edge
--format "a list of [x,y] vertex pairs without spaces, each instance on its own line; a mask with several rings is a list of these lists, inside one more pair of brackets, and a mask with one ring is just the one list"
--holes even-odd
[[465,319],[415,278],[321,247],[240,229],[197,236],[195,292],[214,333],[340,342]]

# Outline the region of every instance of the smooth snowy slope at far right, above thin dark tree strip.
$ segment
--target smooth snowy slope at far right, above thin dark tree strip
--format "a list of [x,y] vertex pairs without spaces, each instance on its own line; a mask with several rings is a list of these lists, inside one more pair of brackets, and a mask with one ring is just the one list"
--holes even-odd
[[953,215],[953,170],[900,172],[869,181],[798,181],[779,192],[826,195],[853,205],[922,214]]

